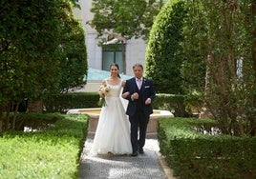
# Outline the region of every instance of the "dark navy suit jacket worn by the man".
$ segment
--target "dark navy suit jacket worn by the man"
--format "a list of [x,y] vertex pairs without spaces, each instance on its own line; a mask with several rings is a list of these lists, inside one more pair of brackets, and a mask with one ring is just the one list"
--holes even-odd
[[[153,81],[151,79],[147,79],[147,78],[143,77],[142,86],[141,86],[140,90],[142,90],[141,92],[142,92],[144,114],[146,116],[149,116],[151,113],[153,113],[153,108],[152,108],[151,104],[145,105],[145,101],[147,98],[150,98],[151,102],[153,102],[153,99],[156,96]],[[131,96],[133,93],[139,91],[137,84],[136,84],[135,77],[126,81],[126,84],[125,84],[125,87],[123,88],[122,93],[127,92],[127,91],[129,91],[130,94],[126,97],[126,99],[129,100],[129,104],[126,109],[126,114],[133,116],[135,114],[135,112],[137,111],[138,100],[132,101]]]

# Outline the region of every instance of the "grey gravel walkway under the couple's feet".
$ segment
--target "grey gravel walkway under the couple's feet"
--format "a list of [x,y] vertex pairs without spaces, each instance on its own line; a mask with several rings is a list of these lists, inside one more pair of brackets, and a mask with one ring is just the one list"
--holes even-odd
[[79,179],[133,178],[173,179],[172,170],[160,156],[156,134],[147,136],[144,153],[137,157],[129,155],[90,155],[94,133],[89,133],[80,158]]

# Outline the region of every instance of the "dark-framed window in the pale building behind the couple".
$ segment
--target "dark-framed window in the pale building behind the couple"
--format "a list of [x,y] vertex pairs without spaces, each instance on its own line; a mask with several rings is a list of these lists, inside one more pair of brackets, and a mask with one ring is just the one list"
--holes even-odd
[[123,72],[123,62],[120,44],[104,45],[102,47],[102,70],[109,70],[110,65],[116,63],[119,73]]

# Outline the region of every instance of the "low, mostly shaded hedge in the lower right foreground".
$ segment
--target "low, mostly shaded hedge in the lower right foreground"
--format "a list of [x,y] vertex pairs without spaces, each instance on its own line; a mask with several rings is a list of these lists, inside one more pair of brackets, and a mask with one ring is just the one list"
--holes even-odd
[[[218,132],[213,120],[158,121],[160,152],[179,178],[255,178],[256,138]],[[206,133],[206,134],[203,134]]]

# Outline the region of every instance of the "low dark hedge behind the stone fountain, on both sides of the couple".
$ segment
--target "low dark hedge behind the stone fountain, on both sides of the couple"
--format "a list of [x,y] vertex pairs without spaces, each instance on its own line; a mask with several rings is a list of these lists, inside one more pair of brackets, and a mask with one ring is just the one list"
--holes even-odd
[[[97,92],[76,92],[48,96],[43,100],[45,112],[66,112],[68,109],[98,108]],[[177,117],[187,116],[185,96],[178,94],[156,95],[153,102],[154,109],[170,110]]]

